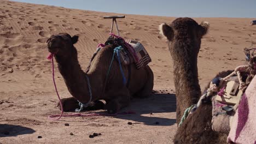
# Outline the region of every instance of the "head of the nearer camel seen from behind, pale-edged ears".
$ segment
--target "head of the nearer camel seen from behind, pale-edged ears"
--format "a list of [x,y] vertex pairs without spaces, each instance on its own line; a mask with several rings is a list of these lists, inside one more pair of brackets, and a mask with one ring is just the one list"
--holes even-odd
[[209,26],[210,24],[208,22],[202,22],[198,25],[196,21],[189,17],[181,17],[174,20],[171,25],[162,23],[159,26],[159,30],[170,42],[170,49],[190,45],[193,49],[197,49],[195,51],[198,52],[201,45],[201,38],[207,33]]

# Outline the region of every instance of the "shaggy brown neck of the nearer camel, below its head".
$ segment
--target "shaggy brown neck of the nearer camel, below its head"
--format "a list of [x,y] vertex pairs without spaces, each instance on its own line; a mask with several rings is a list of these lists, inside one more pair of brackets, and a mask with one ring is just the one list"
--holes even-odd
[[201,95],[197,72],[197,52],[181,50],[182,48],[171,50],[177,99],[177,123],[179,123],[184,110],[192,104],[196,104]]

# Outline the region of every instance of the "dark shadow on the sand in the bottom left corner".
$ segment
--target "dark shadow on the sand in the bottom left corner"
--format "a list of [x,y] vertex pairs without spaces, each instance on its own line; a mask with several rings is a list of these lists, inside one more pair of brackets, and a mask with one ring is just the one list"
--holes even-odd
[[22,127],[20,125],[0,124],[0,137],[11,137],[36,132],[31,128]]

